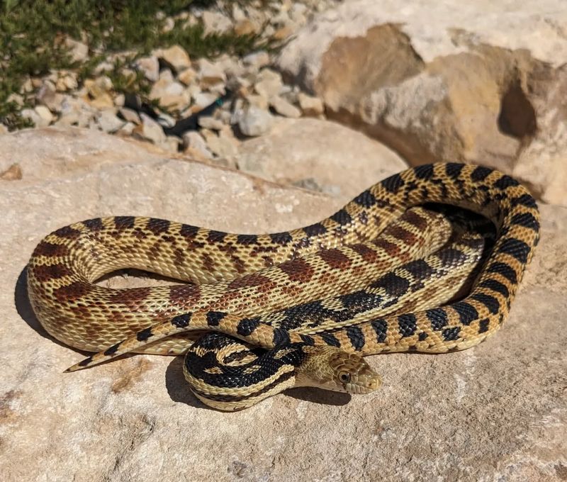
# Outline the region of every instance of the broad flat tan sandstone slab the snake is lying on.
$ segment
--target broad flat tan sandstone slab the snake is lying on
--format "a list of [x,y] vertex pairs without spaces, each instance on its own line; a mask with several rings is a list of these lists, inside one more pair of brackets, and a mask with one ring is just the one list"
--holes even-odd
[[0,172],[14,163],[21,179],[0,180],[3,481],[565,480],[566,208],[541,206],[537,256],[510,320],[487,342],[369,357],[385,381],[369,396],[301,388],[219,413],[191,395],[179,358],[133,356],[62,374],[83,355],[50,339],[30,310],[33,247],[92,216],[263,232],[313,223],[342,201],[90,130],[4,135]]

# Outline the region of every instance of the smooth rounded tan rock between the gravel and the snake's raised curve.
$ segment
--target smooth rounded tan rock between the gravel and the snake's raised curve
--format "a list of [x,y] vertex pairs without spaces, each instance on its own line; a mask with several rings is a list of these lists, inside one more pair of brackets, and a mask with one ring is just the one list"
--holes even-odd
[[315,187],[347,203],[378,179],[407,169],[395,152],[334,122],[279,118],[269,135],[242,142],[230,159],[280,184]]

